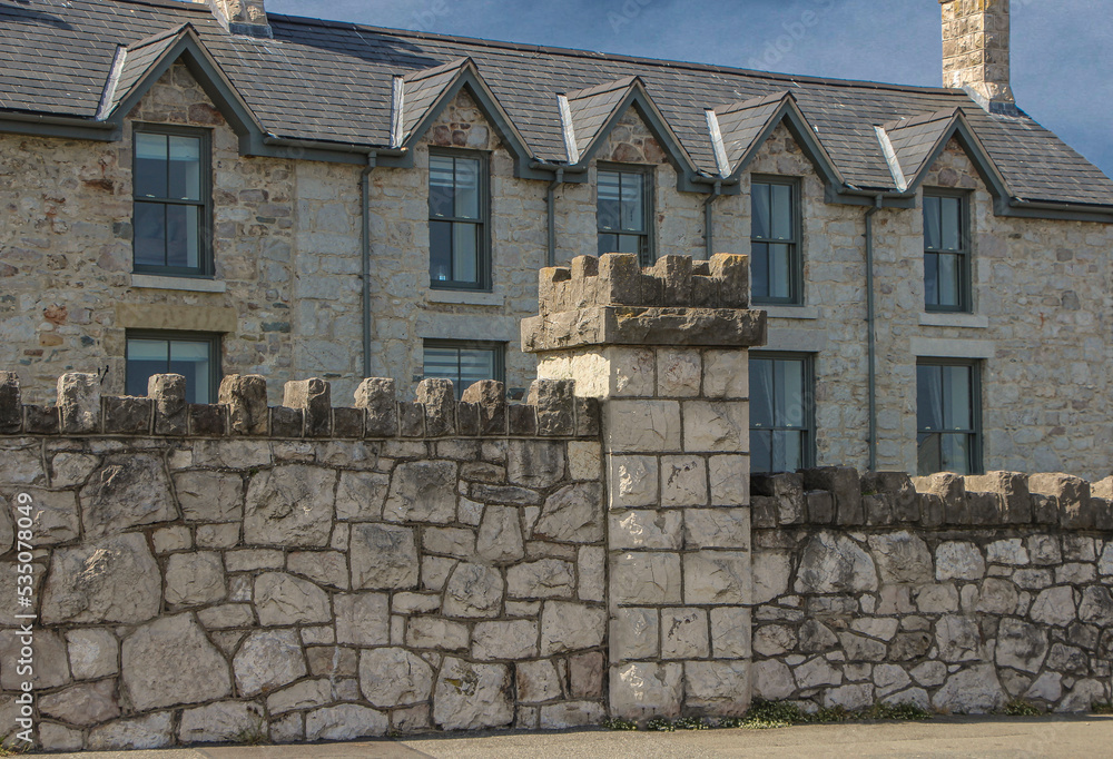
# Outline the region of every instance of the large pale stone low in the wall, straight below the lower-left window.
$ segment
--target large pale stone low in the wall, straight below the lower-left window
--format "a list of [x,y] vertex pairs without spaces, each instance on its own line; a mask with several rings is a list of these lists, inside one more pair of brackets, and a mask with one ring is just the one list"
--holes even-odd
[[120,669],[137,711],[232,693],[228,663],[191,614],[162,617],[136,629],[124,639]]

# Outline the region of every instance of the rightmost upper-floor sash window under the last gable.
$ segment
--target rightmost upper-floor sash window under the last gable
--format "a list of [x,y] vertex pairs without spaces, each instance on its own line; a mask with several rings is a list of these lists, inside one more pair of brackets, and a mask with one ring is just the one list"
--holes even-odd
[[927,310],[971,310],[968,214],[964,195],[924,194],[924,305]]

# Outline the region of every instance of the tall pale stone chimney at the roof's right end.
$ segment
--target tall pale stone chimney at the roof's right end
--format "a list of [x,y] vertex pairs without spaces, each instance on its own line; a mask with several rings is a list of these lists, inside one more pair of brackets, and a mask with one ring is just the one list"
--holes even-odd
[[939,0],[943,86],[962,87],[986,110],[1015,108],[1008,85],[1008,0]]

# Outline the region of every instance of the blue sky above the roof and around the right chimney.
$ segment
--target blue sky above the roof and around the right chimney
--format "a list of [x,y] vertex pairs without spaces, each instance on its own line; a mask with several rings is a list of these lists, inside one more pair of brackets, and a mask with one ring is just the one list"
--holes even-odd
[[[1013,0],[1017,105],[1113,176],[1109,0]],[[267,0],[293,16],[937,86],[937,0]]]

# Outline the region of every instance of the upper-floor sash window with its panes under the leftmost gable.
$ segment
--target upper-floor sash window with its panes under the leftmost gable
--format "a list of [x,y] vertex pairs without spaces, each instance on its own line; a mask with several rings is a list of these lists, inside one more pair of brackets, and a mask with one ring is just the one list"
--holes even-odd
[[134,137],[135,270],[211,275],[208,135],[145,126]]

